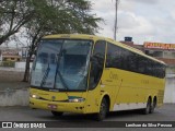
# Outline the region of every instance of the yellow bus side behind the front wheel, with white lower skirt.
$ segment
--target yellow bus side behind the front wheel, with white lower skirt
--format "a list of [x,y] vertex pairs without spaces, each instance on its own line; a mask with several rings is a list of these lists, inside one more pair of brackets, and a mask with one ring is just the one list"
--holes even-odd
[[118,69],[106,69],[102,79],[104,91],[110,97],[110,110],[144,108],[149,96],[154,96],[158,106],[163,103],[164,80]]

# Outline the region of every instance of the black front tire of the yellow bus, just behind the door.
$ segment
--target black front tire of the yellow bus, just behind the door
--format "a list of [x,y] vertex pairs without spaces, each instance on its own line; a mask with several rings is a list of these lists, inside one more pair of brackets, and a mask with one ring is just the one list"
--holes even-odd
[[106,118],[107,112],[108,112],[108,103],[106,98],[103,98],[100,107],[100,112],[95,115],[95,119],[97,121],[103,121]]

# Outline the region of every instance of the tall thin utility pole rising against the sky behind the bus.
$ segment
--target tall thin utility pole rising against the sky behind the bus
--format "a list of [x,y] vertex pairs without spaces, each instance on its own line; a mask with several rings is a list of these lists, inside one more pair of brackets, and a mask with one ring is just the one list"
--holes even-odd
[[119,0],[116,0],[115,3],[115,23],[114,23],[114,39],[116,40],[116,35],[117,35],[117,13],[118,13],[118,4],[119,4]]

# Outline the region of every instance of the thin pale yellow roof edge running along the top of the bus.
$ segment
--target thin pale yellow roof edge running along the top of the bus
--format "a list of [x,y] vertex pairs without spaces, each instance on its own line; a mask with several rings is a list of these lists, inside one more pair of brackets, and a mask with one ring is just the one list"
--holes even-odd
[[128,49],[128,50],[130,50],[130,51],[132,51],[132,52],[136,52],[136,53],[138,53],[138,55],[141,55],[141,56],[143,56],[143,57],[145,57],[145,58],[149,58],[149,59],[151,59],[151,60],[154,60],[154,61],[156,61],[156,62],[160,62],[160,63],[162,63],[162,64],[165,64],[163,61],[161,61],[161,60],[158,60],[158,59],[155,59],[155,58],[153,58],[153,57],[150,57],[150,56],[148,56],[148,55],[145,55],[144,52],[142,52],[141,50],[139,50],[139,49],[136,49],[136,48],[133,48],[133,47],[131,47],[131,46],[128,46],[128,45],[125,45],[125,44],[121,44],[121,43],[119,43],[119,41],[116,41],[116,40],[114,40],[114,39],[112,39],[112,38],[107,38],[107,37],[101,37],[101,36],[95,36],[95,35],[86,35],[86,34],[56,34],[56,35],[47,35],[47,36],[45,36],[44,38],[51,38],[51,39],[54,39],[54,38],[75,38],[75,39],[94,39],[94,40],[97,40],[97,39],[101,39],[101,40],[106,40],[106,41],[109,41],[109,43],[112,43],[112,44],[114,44],[114,45],[117,45],[117,46],[119,46],[119,47],[122,47],[122,48],[126,48],[126,49]]

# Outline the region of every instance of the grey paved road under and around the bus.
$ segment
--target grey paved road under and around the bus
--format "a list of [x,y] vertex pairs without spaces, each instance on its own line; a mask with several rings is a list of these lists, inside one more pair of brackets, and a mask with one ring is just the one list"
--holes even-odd
[[[109,116],[105,119],[105,122],[109,121],[130,121],[130,122],[137,122],[137,121],[175,121],[175,105],[164,105],[162,108],[156,109],[154,114],[152,115],[141,115],[137,110],[135,111],[120,111],[120,112],[113,112],[109,114]],[[61,118],[55,118],[47,110],[39,110],[39,109],[31,109],[28,107],[1,107],[0,108],[0,121],[36,121],[36,122],[46,122],[46,121],[52,121],[58,123],[67,123],[68,128],[69,123],[72,124],[72,121],[78,121],[78,126],[84,124],[88,127],[88,124],[96,124],[97,122],[93,120],[92,116],[84,116],[84,115],[72,115],[72,114],[66,114]],[[105,124],[103,122],[102,124]],[[73,122],[74,124],[75,122]],[[75,124],[77,124],[75,123]],[[100,123],[100,122],[98,122]],[[97,123],[97,124],[98,124]],[[117,123],[117,122],[116,122]],[[94,126],[95,127],[95,126]],[[108,130],[114,130],[114,128],[107,128]],[[126,129],[121,128],[122,130],[137,130],[137,129]],[[54,129],[52,129],[54,130]],[[60,130],[67,130],[65,128],[59,129]],[[72,130],[77,131],[80,130],[73,128]],[[89,130],[88,128],[83,130]],[[97,131],[102,130],[98,128],[92,128],[91,130]],[[104,128],[106,130],[106,128]],[[138,129],[141,130],[141,129]],[[147,130],[147,129],[142,129]],[[153,130],[165,130],[162,129],[153,129]],[[167,130],[167,129],[166,129]],[[170,129],[173,131],[173,129]],[[0,129],[1,131],[1,129]]]

